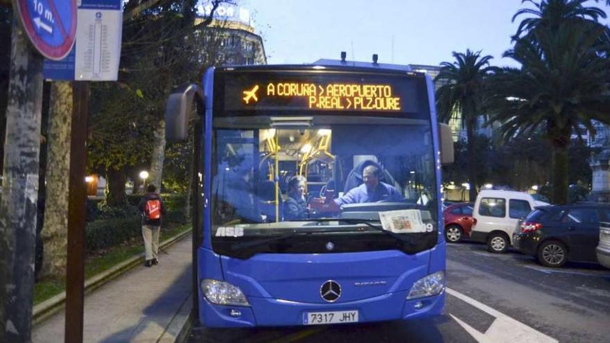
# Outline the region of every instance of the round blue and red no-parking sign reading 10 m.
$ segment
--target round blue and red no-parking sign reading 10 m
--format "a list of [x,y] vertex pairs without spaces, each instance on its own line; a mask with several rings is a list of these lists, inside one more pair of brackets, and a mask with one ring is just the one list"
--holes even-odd
[[13,0],[30,42],[44,57],[61,60],[76,37],[76,0]]

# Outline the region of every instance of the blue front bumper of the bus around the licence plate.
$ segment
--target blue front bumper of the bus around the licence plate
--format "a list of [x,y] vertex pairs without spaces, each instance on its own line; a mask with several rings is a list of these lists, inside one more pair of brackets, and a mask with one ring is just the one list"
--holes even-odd
[[308,313],[358,311],[358,322],[421,319],[442,315],[444,290],[433,297],[406,299],[407,292],[336,304],[311,304],[281,299],[248,297],[250,306],[220,306],[200,301],[200,322],[210,328],[252,326],[304,326]]

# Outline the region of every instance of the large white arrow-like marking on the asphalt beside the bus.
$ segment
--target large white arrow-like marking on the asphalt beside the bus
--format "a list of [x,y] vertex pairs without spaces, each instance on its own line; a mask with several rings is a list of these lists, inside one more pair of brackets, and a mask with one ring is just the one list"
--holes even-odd
[[555,338],[545,335],[544,333],[541,333],[540,331],[537,331],[534,328],[531,328],[530,326],[527,326],[527,325],[519,322],[516,319],[508,317],[507,315],[501,313],[500,311],[494,310],[493,308],[491,308],[485,304],[482,304],[479,301],[472,299],[471,297],[467,297],[466,295],[464,295],[458,291],[452,290],[451,288],[446,288],[446,292],[447,292],[447,294],[451,294],[451,295],[453,295],[453,297],[456,297],[456,298],[478,308],[479,310],[482,310],[483,312],[487,313],[488,315],[496,317],[496,320],[494,320],[494,322],[491,323],[491,326],[489,326],[489,328],[487,328],[487,331],[485,331],[485,333],[481,333],[480,331],[476,330],[472,326],[469,326],[468,324],[464,323],[458,317],[455,317],[454,315],[449,314],[449,315],[451,315],[451,317],[453,319],[455,319],[455,322],[458,322],[458,324],[460,324],[460,326],[462,326],[462,328],[464,328],[464,330],[466,330],[467,333],[469,333],[475,340],[477,340],[477,342],[480,342],[480,343],[488,343],[488,342],[489,343],[496,343],[496,342],[498,342],[498,343],[502,343],[502,342],[506,342],[506,343],[514,343],[514,342],[557,343],[557,342],[559,342],[558,340],[555,340]]

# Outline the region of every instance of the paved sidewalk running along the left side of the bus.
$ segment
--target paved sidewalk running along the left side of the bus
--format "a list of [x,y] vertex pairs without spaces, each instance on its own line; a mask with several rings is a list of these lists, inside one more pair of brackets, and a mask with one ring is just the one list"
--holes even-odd
[[[174,342],[191,311],[191,236],[85,296],[83,342]],[[63,342],[65,312],[33,328],[33,342]]]

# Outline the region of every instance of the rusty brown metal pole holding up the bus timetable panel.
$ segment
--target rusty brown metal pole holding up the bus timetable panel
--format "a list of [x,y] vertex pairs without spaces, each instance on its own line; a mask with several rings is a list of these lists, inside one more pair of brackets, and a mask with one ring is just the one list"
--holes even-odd
[[68,261],[66,273],[66,343],[82,342],[85,303],[85,216],[87,185],[87,112],[89,82],[74,81],[70,141]]

